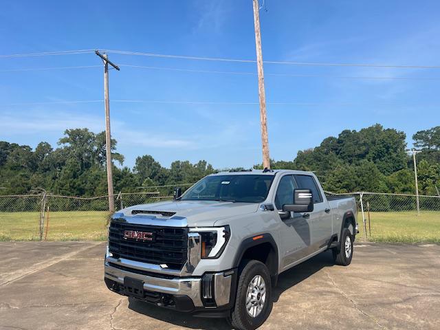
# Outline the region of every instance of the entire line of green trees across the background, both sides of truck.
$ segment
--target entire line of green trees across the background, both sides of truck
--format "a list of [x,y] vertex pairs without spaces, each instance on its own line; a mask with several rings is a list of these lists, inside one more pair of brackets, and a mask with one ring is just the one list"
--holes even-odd
[[[440,189],[440,126],[413,135],[417,154],[419,190],[437,195]],[[272,168],[311,170],[326,190],[413,193],[412,158],[406,153],[406,134],[380,124],[345,130],[327,137],[316,148],[299,151],[287,161],[272,160]],[[214,169],[205,160],[192,164],[176,160],[169,168],[153,156],[136,158],[135,166],[123,166],[124,156],[111,140],[115,192],[135,192],[142,187],[190,184]],[[107,195],[105,135],[89,129],[67,129],[53,148],[40,142],[30,146],[0,141],[0,194],[19,195],[44,190],[72,196]],[[256,164],[254,168],[261,168]],[[436,188],[437,187],[437,188]]]

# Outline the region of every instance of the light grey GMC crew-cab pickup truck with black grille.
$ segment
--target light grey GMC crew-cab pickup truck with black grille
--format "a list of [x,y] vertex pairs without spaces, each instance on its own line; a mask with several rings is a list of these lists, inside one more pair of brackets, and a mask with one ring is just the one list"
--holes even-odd
[[314,173],[224,172],[176,191],[113,214],[104,264],[113,292],[256,329],[279,274],[329,249],[351,263],[355,199],[326,197]]

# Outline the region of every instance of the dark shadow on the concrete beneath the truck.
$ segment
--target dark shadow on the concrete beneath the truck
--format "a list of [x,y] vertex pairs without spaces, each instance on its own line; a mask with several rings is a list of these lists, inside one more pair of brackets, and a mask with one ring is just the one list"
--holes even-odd
[[[276,303],[283,292],[294,287],[323,268],[331,267],[333,265],[334,263],[331,252],[327,251],[314,256],[304,263],[292,267],[286,272],[283,272],[278,278],[278,285],[272,291],[272,300]],[[274,307],[276,307],[276,305],[274,305]],[[129,309],[157,320],[162,320],[173,325],[190,329],[232,329],[232,327],[228,325],[228,322],[222,319],[195,318],[193,316],[188,316],[188,314],[185,313],[164,309],[148,303],[143,303],[139,300],[129,299]]]

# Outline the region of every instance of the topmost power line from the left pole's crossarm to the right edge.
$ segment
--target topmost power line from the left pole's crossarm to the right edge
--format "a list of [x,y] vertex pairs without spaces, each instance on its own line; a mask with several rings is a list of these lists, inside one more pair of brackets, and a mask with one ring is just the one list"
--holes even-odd
[[[255,60],[246,60],[239,58],[184,56],[184,55],[157,54],[157,53],[146,53],[146,52],[129,52],[124,50],[107,50],[107,53],[149,56],[149,57],[158,57],[158,58],[179,58],[179,59],[197,60],[197,61],[256,63]],[[440,69],[440,65],[382,65],[382,64],[368,64],[368,63],[314,63],[314,62],[293,62],[293,61],[264,61],[264,63],[285,64],[285,65],[305,65],[305,66],[331,66],[331,67],[388,67],[388,68],[402,68],[402,69]]]

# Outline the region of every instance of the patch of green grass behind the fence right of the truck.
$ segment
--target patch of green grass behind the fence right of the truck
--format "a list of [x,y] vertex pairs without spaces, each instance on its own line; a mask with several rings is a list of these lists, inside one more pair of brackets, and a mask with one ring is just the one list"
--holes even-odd
[[[369,232],[368,212],[365,212]],[[368,241],[388,243],[440,243],[440,211],[370,212]],[[360,239],[364,239],[362,213],[358,213]]]

